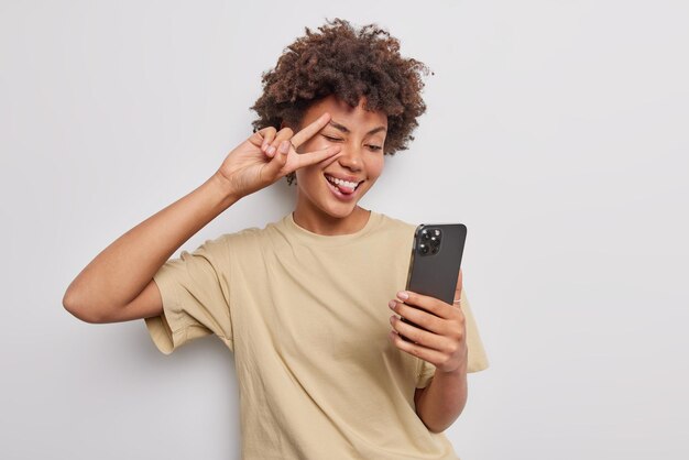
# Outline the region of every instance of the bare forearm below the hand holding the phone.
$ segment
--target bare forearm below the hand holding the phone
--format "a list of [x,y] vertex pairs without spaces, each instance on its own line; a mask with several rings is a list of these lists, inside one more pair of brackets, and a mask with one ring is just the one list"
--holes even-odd
[[429,431],[445,431],[464,409],[467,393],[466,369],[450,373],[436,371],[419,397],[416,414]]

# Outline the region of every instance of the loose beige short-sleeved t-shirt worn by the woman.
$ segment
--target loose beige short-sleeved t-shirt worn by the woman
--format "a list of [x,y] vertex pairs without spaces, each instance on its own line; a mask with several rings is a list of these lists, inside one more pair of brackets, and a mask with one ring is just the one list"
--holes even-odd
[[[311,233],[292,213],[182,251],[146,318],[165,354],[215,333],[234,352],[242,459],[457,459],[415,412],[435,368],[389,339],[415,226],[371,212],[360,231]],[[488,361],[462,292],[469,372]],[[169,336],[163,321],[167,321]]]

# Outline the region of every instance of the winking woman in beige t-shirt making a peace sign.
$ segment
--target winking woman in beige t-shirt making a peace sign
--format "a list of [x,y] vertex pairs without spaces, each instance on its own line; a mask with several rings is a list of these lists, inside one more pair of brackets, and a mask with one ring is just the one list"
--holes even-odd
[[[467,372],[488,365],[461,272],[455,305],[401,291],[415,226],[358,206],[383,155],[413,139],[426,67],[374,25],[306,32],[264,75],[253,135],[89,263],[65,308],[145,318],[164,353],[218,336],[234,352],[244,459],[457,458],[441,431],[466,404]],[[294,212],[168,260],[282,177],[296,179]]]

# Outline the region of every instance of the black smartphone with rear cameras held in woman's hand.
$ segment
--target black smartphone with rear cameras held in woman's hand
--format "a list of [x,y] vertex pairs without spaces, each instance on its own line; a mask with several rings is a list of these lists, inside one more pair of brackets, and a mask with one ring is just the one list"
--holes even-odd
[[[452,304],[466,241],[467,226],[463,223],[418,226],[414,232],[406,288]],[[401,319],[424,329],[406,318]],[[402,335],[400,337],[412,341]]]

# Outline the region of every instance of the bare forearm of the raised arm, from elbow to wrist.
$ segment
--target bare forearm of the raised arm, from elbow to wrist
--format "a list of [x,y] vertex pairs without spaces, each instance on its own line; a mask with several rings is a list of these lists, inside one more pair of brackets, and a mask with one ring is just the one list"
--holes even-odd
[[63,304],[92,316],[127,305],[185,241],[237,200],[215,174],[99,253],[72,282]]

